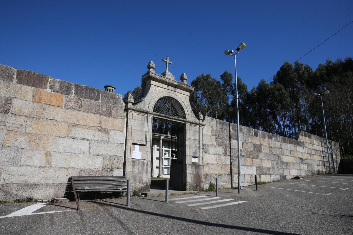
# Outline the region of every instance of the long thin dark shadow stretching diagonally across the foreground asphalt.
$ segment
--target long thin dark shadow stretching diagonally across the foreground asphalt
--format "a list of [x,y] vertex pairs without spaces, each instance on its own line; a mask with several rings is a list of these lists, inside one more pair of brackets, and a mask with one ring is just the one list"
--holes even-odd
[[267,229],[257,229],[257,228],[249,228],[249,227],[243,227],[243,226],[237,226],[237,225],[211,223],[211,222],[199,221],[196,219],[188,219],[188,218],[172,216],[172,215],[163,215],[163,214],[158,214],[156,212],[143,211],[143,210],[128,208],[126,206],[112,205],[112,204],[107,204],[107,203],[103,203],[103,202],[92,202],[92,203],[101,204],[101,205],[110,205],[110,206],[114,206],[116,208],[120,208],[123,210],[135,211],[135,212],[139,212],[139,213],[143,213],[143,214],[147,214],[147,215],[165,217],[165,218],[169,218],[169,219],[176,219],[176,220],[185,221],[185,222],[189,222],[189,223],[195,223],[195,224],[207,225],[207,226],[213,226],[213,227],[219,227],[219,228],[237,229],[237,230],[251,231],[254,233],[265,233],[265,234],[299,235],[297,233],[286,233],[286,232],[273,231],[273,230],[267,230]]

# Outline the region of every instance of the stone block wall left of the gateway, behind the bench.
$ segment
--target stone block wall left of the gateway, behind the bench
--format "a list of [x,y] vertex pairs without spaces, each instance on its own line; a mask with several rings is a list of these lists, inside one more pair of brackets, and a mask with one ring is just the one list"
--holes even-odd
[[71,175],[122,175],[124,107],[120,94],[0,65],[0,200],[62,197]]

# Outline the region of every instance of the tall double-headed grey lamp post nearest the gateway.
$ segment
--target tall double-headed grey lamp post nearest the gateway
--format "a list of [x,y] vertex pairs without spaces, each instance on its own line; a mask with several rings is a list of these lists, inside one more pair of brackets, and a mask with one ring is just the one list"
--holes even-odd
[[240,161],[240,132],[239,132],[239,98],[238,98],[238,78],[237,78],[237,57],[236,55],[239,53],[240,49],[245,48],[245,43],[240,43],[237,52],[234,53],[233,50],[225,50],[224,54],[234,56],[234,66],[235,66],[235,91],[237,93],[237,134],[238,134],[238,177],[239,177],[239,185],[238,188],[241,188],[241,161]]

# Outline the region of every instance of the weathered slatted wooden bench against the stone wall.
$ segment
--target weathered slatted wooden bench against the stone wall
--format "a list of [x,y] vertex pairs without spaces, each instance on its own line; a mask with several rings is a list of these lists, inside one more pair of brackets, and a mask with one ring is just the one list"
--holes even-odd
[[71,176],[71,184],[77,210],[79,192],[126,192],[126,205],[130,206],[130,180],[125,176]]

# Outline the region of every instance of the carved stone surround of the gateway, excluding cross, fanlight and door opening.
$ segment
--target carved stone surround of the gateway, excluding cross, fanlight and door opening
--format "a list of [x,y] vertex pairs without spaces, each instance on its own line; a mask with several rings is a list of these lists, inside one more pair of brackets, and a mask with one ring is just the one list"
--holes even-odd
[[[151,63],[150,63],[151,64]],[[150,65],[149,64],[149,65]],[[171,74],[169,72],[169,74]],[[151,176],[151,139],[152,118],[158,117],[184,124],[184,177],[183,184],[187,190],[200,190],[203,180],[203,122],[192,112],[189,102],[194,88],[186,84],[186,75],[182,82],[175,81],[174,76],[164,76],[149,69],[142,76],[142,93],[134,102],[126,103],[127,112],[126,147],[124,173],[131,179],[134,190],[149,191]],[[184,118],[166,116],[153,111],[155,103],[162,97],[172,97],[183,107]],[[137,159],[134,151],[141,151]],[[192,163],[192,157],[198,162]]]

